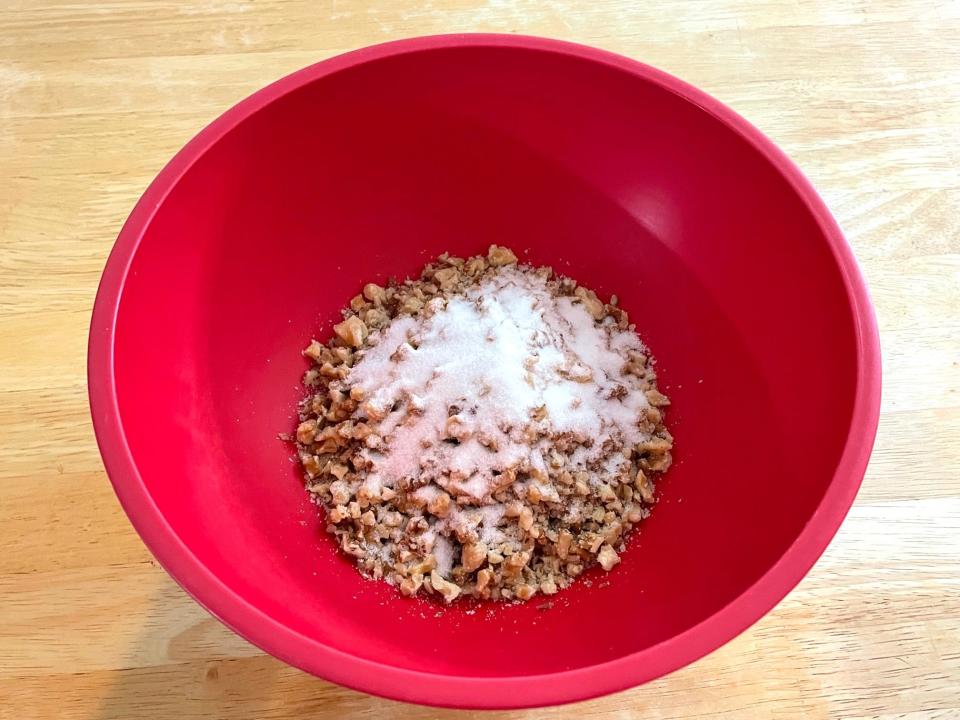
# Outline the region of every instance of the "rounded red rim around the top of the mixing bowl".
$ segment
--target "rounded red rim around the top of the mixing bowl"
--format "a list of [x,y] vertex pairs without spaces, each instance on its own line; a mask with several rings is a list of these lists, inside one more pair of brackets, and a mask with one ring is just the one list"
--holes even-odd
[[[800,535],[766,574],[709,618],[657,645],[599,665],[519,677],[449,676],[374,662],[301,635],[247,603],[184,545],[150,497],[124,435],[114,377],[117,312],[140,240],[171,188],[222,136],[286,93],[361,63],[452,47],[526,48],[601,63],[655,83],[720,120],[780,172],[816,219],[840,269],[855,323],[856,388],[850,430],[833,480]],[[299,70],[227,110],[160,171],[124,224],[100,280],[87,360],[93,425],[114,490],[143,541],[197,602],[266,652],[314,675],[375,695],[445,707],[518,708],[585,700],[653,680],[732,640],[770,611],[826,549],[860,487],[880,414],[880,343],[867,288],[839,226],[796,165],[733,110],[667,73],[604,50],[522,35],[435,35],[374,45]]]

